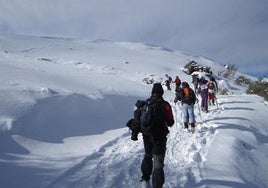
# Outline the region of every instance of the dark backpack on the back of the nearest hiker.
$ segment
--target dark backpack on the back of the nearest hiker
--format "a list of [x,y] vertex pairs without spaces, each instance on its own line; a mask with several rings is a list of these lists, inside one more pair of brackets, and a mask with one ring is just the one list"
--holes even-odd
[[147,99],[140,109],[140,126],[144,134],[155,135],[157,126],[165,121],[165,109],[163,99]]

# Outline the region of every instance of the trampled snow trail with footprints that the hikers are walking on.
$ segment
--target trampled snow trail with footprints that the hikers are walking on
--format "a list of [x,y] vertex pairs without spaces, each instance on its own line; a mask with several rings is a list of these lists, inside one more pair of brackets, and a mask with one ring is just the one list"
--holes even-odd
[[[166,92],[165,99],[171,104],[173,97],[173,92]],[[172,107],[173,113],[180,113],[179,105],[172,104]],[[211,113],[218,111],[213,107]],[[207,148],[215,133],[215,128],[205,122],[198,124],[194,134],[182,130],[180,115],[176,115],[176,125],[170,129],[168,136],[164,187],[169,188],[191,186],[200,179],[199,164],[206,159]],[[121,137],[84,158],[47,187],[140,187],[140,164],[144,155],[142,136],[139,134],[139,140],[134,142],[130,140],[129,130],[126,128],[125,131]]]

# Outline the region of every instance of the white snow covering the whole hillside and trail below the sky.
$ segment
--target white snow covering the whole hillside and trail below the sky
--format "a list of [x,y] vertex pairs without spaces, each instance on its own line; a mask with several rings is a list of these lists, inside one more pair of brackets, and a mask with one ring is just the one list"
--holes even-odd
[[[212,60],[141,43],[0,36],[0,187],[137,188],[142,136],[125,126],[144,78],[181,71],[190,60]],[[215,75],[232,95],[199,113],[197,130],[182,130],[181,107],[166,91],[176,123],[170,128],[165,188],[268,187],[267,103]],[[200,116],[201,115],[201,116]]]

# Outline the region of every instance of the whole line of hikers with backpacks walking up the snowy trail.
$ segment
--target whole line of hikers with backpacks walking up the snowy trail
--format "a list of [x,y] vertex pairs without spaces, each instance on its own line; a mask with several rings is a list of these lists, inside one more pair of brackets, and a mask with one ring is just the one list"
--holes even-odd
[[[176,76],[174,81],[166,74],[165,86],[171,90],[171,84],[175,84],[175,104],[181,101],[183,127],[187,130],[195,129],[194,105],[198,103],[196,95],[201,96],[201,107],[208,112],[208,103],[213,105],[216,102],[215,93],[218,90],[216,80],[211,77],[207,80],[200,77],[192,81],[195,89]],[[196,78],[195,78],[196,79]],[[132,130],[131,139],[138,140],[141,132],[145,155],[141,164],[141,182],[148,184],[152,176],[154,188],[162,188],[165,182],[164,158],[166,152],[168,127],[174,124],[174,116],[171,105],[163,99],[164,89],[161,83],[153,85],[151,96],[145,100],[138,100],[135,105],[134,118],[127,122]],[[145,186],[146,187],[146,186]]]

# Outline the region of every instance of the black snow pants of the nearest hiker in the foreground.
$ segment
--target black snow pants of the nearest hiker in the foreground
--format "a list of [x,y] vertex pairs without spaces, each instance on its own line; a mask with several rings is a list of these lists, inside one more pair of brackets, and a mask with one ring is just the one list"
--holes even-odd
[[152,175],[153,188],[162,188],[165,183],[164,159],[167,138],[159,140],[143,135],[145,155],[141,164],[142,179],[150,180]]

